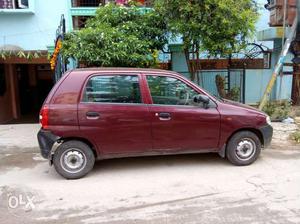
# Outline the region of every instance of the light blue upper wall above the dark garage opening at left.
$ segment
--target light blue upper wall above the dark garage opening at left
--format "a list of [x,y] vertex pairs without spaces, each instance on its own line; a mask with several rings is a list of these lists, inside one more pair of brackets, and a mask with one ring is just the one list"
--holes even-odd
[[68,1],[30,0],[31,3],[33,13],[0,11],[0,47],[10,44],[24,50],[47,50],[47,46],[54,45],[61,15],[68,13]]

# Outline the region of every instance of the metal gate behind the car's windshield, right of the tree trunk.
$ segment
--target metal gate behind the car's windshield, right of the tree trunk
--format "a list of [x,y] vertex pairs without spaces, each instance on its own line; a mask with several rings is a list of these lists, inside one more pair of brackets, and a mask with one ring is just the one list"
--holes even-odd
[[217,75],[223,77],[224,90],[227,94],[234,95],[235,101],[245,103],[245,70],[201,70],[198,72],[198,85],[215,96],[220,96],[217,85]]

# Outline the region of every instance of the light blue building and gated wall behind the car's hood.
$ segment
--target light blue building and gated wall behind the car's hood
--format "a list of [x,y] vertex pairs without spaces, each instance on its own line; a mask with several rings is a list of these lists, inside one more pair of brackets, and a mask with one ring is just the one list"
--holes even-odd
[[[229,65],[226,59],[201,60],[198,84],[212,94],[218,95],[215,80],[217,75],[221,75],[226,80],[227,89],[239,89],[241,102],[257,105],[272,76],[284,40],[295,19],[296,0],[287,0],[286,2],[286,14],[284,14],[284,0],[258,0],[257,3],[262,9],[260,9],[261,17],[257,23],[256,40],[253,41],[257,48],[255,49],[251,43],[244,54],[233,56],[234,60],[239,61],[237,65]],[[266,8],[263,8],[263,5]],[[286,29],[283,27],[284,15],[286,16]],[[180,49],[180,41],[171,44],[170,50],[172,70],[189,76],[185,56]],[[205,55],[203,57],[205,58]],[[281,75],[270,94],[271,100],[291,101],[293,57],[292,53],[287,55]]]

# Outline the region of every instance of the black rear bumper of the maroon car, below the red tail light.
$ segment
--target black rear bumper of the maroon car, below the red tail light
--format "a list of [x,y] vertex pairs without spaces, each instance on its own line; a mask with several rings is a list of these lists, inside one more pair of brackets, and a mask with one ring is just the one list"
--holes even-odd
[[58,139],[60,139],[60,137],[54,135],[51,131],[40,129],[37,134],[37,138],[42,156],[45,159],[49,159],[52,146]]

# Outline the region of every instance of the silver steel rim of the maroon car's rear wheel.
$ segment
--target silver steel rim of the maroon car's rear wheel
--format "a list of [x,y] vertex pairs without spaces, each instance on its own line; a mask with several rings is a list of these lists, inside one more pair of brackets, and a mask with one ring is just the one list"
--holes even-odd
[[69,149],[60,159],[61,167],[69,173],[78,173],[86,165],[86,157],[79,149]]

